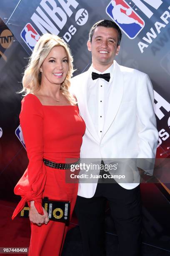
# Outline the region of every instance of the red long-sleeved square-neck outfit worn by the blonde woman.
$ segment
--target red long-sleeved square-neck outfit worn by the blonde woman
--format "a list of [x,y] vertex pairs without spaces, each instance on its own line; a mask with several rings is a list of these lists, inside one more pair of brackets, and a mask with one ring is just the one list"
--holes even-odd
[[[51,200],[70,200],[72,215],[78,184],[66,183],[67,170],[45,166],[42,159],[72,163],[80,158],[85,123],[79,115],[78,107],[42,105],[35,95],[28,94],[22,100],[20,125],[29,164],[14,189],[15,194],[20,195],[22,200],[12,218],[23,209],[25,202],[32,200],[35,201],[37,211],[43,214],[43,197],[49,197]],[[66,229],[64,223],[54,221],[41,226],[31,223],[29,255],[60,255]]]

